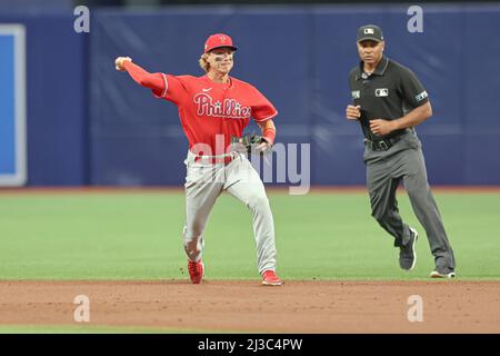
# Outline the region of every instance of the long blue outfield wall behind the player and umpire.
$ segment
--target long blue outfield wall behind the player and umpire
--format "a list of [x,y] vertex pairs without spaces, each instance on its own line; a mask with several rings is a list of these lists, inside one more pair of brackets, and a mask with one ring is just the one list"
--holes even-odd
[[423,33],[408,32],[407,9],[91,9],[90,34],[72,31],[72,13],[10,19],[27,24],[29,184],[183,184],[188,144],[177,108],[117,72],[113,60],[202,75],[206,38],[227,32],[239,46],[232,75],[280,111],[277,141],[311,145],[312,184],[362,185],[361,130],[344,108],[356,30],[371,22],[384,30],[386,53],[430,95],[434,115],[417,131],[431,184],[500,185],[500,6],[424,4]]

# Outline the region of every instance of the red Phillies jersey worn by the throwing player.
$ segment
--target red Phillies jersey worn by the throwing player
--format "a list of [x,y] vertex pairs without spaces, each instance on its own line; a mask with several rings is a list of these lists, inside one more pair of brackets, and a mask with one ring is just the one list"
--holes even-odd
[[[256,87],[232,77],[228,83],[214,82],[207,76],[162,73],[162,77],[164,89],[162,92],[153,89],[153,95],[177,105],[189,148],[206,144],[211,148],[210,155],[222,155],[233,135],[242,136],[250,118],[263,122],[278,115]],[[218,135],[219,144],[216,145]]]

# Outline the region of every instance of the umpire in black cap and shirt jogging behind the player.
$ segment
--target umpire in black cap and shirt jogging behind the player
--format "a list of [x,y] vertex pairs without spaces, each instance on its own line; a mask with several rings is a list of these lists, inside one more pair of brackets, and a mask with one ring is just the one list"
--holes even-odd
[[416,229],[399,215],[396,189],[402,181],[434,256],[432,278],[453,278],[454,256],[427,180],[422,144],[413,129],[432,116],[426,89],[408,68],[383,56],[382,30],[374,24],[358,29],[359,66],[349,73],[352,105],[349,120],[358,120],[364,135],[363,161],[373,218],[394,237],[402,269],[414,267]]

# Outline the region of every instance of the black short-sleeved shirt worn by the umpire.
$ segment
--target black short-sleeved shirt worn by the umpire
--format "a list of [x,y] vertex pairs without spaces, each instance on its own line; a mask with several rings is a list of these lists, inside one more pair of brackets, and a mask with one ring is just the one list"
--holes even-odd
[[[363,62],[349,73],[349,85],[354,106],[361,106],[359,119],[363,135],[371,141],[382,139],[370,130],[370,120],[394,120],[429,101],[426,89],[408,68],[382,57],[371,75],[363,71]],[[392,131],[391,138],[404,131]]]

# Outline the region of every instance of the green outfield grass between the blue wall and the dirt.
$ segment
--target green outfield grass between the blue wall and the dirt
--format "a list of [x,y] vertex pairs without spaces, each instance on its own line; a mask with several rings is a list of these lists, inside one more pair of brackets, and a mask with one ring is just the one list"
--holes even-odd
[[[284,279],[422,279],[433,259],[417,227],[416,270],[371,218],[364,192],[269,194]],[[500,192],[437,192],[461,279],[500,279]],[[0,195],[0,279],[184,279],[182,191]],[[206,231],[209,279],[258,279],[251,215],[219,198]]]

